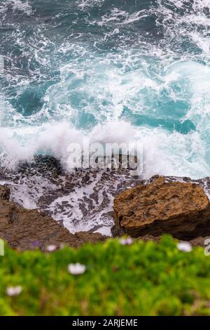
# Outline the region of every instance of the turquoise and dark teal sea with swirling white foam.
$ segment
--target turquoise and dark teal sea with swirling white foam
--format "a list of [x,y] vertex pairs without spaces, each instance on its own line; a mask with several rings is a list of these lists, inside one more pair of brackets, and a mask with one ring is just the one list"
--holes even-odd
[[0,34],[1,164],[65,168],[88,136],[141,141],[143,178],[210,175],[209,0],[6,0]]

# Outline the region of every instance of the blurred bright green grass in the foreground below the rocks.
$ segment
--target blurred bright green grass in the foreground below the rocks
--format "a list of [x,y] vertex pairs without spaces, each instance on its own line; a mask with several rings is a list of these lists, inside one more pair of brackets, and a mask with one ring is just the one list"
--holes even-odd
[[[70,275],[69,263],[83,275]],[[210,315],[210,257],[162,242],[118,239],[54,253],[6,247],[0,257],[0,315]],[[22,286],[17,297],[8,286]]]

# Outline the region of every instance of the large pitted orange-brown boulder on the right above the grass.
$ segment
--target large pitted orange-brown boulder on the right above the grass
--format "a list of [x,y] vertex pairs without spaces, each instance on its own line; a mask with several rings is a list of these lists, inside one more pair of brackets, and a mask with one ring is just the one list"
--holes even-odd
[[210,203],[203,188],[192,182],[167,182],[159,177],[122,192],[114,200],[113,235],[132,237],[163,233],[178,239],[210,234]]

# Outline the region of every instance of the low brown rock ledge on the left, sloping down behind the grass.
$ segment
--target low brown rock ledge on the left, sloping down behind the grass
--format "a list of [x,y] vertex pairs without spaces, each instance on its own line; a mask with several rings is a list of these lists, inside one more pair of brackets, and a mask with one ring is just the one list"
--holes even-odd
[[73,235],[45,213],[23,209],[10,202],[9,198],[9,188],[0,186],[0,238],[13,248],[26,250],[38,247],[45,251],[52,244],[78,247],[106,239],[99,233],[78,232]]

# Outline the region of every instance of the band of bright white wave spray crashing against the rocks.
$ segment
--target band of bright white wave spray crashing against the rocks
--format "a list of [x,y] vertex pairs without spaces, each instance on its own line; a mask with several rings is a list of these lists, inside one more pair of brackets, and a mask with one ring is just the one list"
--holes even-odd
[[[12,168],[20,160],[31,161],[34,154],[45,152],[61,158],[67,169],[69,143],[82,145],[84,137],[81,131],[64,122],[25,130],[20,128],[19,134],[18,130],[12,134],[11,129],[1,128],[2,155]],[[206,146],[197,131],[186,135],[178,132],[169,134],[162,128],[134,128],[125,121],[115,121],[103,126],[99,124],[85,136],[90,138],[90,143],[130,143],[134,139],[139,140],[144,146],[144,178],[154,174],[192,178],[209,175]]]

